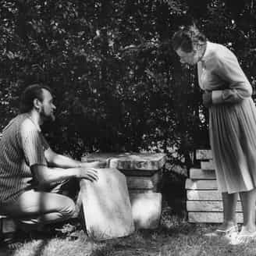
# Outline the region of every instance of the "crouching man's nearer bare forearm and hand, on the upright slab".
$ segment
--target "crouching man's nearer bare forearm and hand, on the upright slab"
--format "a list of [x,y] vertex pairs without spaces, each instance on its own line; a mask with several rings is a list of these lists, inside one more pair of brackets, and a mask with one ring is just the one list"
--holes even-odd
[[95,181],[98,180],[98,172],[93,168],[51,168],[45,165],[32,165],[30,167],[35,180],[40,185],[57,183],[69,178],[78,178]]

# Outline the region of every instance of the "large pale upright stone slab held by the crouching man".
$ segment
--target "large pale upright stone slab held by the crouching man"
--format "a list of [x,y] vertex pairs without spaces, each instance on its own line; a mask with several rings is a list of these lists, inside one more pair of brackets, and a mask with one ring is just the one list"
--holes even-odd
[[98,181],[80,181],[88,236],[94,240],[128,236],[134,231],[126,177],[117,169],[98,169]]

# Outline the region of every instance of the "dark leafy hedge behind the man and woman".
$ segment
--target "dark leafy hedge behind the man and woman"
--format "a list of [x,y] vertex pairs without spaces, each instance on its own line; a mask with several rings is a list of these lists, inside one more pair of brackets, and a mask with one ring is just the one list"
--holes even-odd
[[[207,109],[196,69],[180,65],[169,40],[192,21],[231,48],[254,85],[254,0],[0,1],[0,126],[16,116],[32,83],[52,87],[52,148],[165,151],[191,164],[208,147]],[[170,153],[172,151],[172,154]],[[176,154],[173,154],[174,153]]]

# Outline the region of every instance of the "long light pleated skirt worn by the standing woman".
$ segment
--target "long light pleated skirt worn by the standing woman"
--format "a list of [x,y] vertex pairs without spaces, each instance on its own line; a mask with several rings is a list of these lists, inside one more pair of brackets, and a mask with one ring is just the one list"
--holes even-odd
[[256,187],[256,108],[251,98],[209,108],[209,136],[221,192]]

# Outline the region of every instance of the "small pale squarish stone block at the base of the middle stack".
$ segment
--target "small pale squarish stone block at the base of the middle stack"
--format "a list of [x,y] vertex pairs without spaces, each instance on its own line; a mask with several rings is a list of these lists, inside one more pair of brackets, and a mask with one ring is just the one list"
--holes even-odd
[[137,229],[156,229],[162,213],[162,194],[130,194],[133,221]]

